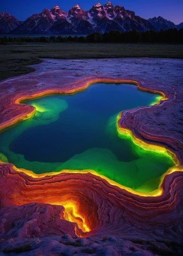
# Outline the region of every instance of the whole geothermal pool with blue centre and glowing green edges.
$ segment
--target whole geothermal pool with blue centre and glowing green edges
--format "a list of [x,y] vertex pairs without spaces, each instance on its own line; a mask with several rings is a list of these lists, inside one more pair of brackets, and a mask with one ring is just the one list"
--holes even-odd
[[1,158],[36,174],[91,169],[134,190],[153,191],[174,165],[171,157],[120,135],[117,120],[123,110],[161,97],[132,84],[95,83],[77,94],[28,101],[36,113],[3,131]]

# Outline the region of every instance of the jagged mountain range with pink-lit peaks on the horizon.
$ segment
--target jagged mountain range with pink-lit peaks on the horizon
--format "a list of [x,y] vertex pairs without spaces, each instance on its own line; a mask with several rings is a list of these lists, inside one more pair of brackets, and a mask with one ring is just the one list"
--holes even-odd
[[41,13],[33,14],[24,22],[7,12],[0,14],[1,34],[90,34],[110,30],[159,31],[170,28],[183,28],[183,23],[175,25],[161,16],[147,20],[120,5],[113,6],[111,2],[105,5],[97,3],[89,11],[82,10],[77,4],[64,12],[55,5],[51,10],[45,8]]

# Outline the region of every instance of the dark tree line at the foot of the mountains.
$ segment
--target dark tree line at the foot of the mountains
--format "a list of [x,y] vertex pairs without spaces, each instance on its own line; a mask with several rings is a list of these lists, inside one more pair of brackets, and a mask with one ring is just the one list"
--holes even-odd
[[104,34],[95,32],[84,36],[40,36],[40,37],[0,37],[0,44],[7,45],[11,43],[23,44],[25,42],[150,42],[150,43],[183,43],[183,28],[180,30],[169,29],[156,32],[148,30],[138,32],[136,30],[120,32],[111,30]]

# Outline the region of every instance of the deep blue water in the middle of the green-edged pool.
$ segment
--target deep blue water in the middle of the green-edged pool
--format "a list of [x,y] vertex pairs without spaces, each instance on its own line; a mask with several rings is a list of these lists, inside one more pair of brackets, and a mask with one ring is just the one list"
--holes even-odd
[[[98,147],[108,148],[119,161],[132,161],[136,157],[129,143],[107,134],[108,119],[122,110],[148,105],[155,97],[138,91],[131,84],[103,83],[70,96],[49,96],[51,101],[66,100],[68,108],[60,113],[56,122],[31,127],[20,134],[10,144],[10,150],[24,155],[28,161],[65,162]],[[41,99],[32,102],[36,101]]]

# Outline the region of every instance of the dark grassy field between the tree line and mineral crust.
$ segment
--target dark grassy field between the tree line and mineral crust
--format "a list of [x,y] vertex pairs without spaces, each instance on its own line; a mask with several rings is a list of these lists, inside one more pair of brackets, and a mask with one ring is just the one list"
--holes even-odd
[[34,71],[28,67],[40,58],[86,59],[154,57],[183,59],[183,45],[106,43],[26,43],[0,46],[0,80]]

